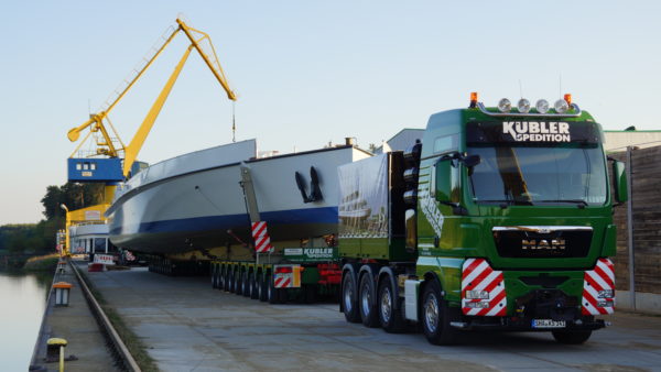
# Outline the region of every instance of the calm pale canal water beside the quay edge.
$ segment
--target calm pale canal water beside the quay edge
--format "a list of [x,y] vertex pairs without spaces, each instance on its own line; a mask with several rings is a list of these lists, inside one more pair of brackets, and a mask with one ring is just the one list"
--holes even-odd
[[0,267],[0,369],[28,371],[53,273]]

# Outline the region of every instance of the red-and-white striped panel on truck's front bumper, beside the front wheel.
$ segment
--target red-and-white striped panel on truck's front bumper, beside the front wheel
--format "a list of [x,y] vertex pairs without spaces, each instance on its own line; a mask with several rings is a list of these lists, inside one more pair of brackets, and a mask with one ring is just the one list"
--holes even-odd
[[501,271],[485,259],[468,259],[462,267],[462,311],[465,315],[502,317],[507,295]]

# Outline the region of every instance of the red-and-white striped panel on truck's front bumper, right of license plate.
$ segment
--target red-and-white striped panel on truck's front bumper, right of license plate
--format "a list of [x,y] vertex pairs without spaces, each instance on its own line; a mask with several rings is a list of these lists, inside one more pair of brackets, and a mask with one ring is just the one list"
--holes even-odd
[[615,310],[615,269],[608,259],[597,260],[583,280],[583,315],[605,315]]

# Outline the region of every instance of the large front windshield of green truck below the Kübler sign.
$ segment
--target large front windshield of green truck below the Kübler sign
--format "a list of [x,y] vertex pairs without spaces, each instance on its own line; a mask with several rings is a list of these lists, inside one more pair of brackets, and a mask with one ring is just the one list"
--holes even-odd
[[481,157],[470,176],[477,203],[606,203],[606,166],[598,145],[469,146],[468,154]]

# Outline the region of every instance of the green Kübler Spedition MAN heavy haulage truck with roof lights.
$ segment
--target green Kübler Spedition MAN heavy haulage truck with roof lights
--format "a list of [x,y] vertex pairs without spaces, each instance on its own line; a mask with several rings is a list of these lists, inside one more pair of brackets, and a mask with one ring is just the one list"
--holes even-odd
[[[433,114],[422,141],[339,167],[340,311],[435,344],[463,330],[582,343],[615,307],[624,164],[571,96]],[[613,162],[610,186],[607,165]]]

